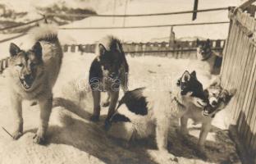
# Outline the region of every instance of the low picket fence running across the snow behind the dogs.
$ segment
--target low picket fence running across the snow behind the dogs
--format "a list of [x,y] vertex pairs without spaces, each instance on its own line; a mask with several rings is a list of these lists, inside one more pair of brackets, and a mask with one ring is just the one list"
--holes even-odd
[[[222,53],[225,40],[210,40],[214,51]],[[126,54],[131,56],[160,56],[173,58],[196,58],[196,41],[174,41],[154,43],[123,43]],[[94,52],[95,44],[72,44],[63,45],[64,52]]]

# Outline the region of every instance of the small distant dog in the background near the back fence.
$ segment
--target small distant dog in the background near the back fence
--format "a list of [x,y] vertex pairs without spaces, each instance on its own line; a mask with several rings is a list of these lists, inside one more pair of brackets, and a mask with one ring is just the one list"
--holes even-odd
[[199,61],[207,65],[210,73],[213,75],[219,75],[222,66],[222,57],[217,55],[217,52],[213,52],[210,45],[210,40],[196,41],[197,52],[196,56]]

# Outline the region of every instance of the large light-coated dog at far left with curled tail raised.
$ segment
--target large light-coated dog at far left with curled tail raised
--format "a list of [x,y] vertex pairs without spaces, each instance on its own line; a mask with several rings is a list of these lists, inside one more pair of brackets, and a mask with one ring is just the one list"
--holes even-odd
[[35,144],[43,144],[52,111],[53,85],[62,65],[62,48],[57,39],[57,30],[41,25],[30,31],[34,46],[25,51],[10,45],[10,63],[7,80],[10,89],[11,110],[15,117],[13,139],[23,134],[22,100],[39,103],[39,129],[34,135]]

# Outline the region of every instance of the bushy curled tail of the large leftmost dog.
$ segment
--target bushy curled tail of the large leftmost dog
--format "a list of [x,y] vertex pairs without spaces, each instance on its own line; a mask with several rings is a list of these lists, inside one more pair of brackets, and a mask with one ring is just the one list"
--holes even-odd
[[57,41],[57,26],[48,24],[39,25],[30,30],[30,35],[34,41],[55,42]]

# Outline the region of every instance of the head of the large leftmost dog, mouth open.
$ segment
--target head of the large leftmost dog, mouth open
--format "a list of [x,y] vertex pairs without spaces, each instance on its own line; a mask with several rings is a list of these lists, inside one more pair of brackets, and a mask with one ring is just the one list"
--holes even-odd
[[10,45],[11,66],[21,81],[21,86],[29,90],[37,75],[43,72],[42,47],[39,42],[28,50],[21,50],[15,43]]

